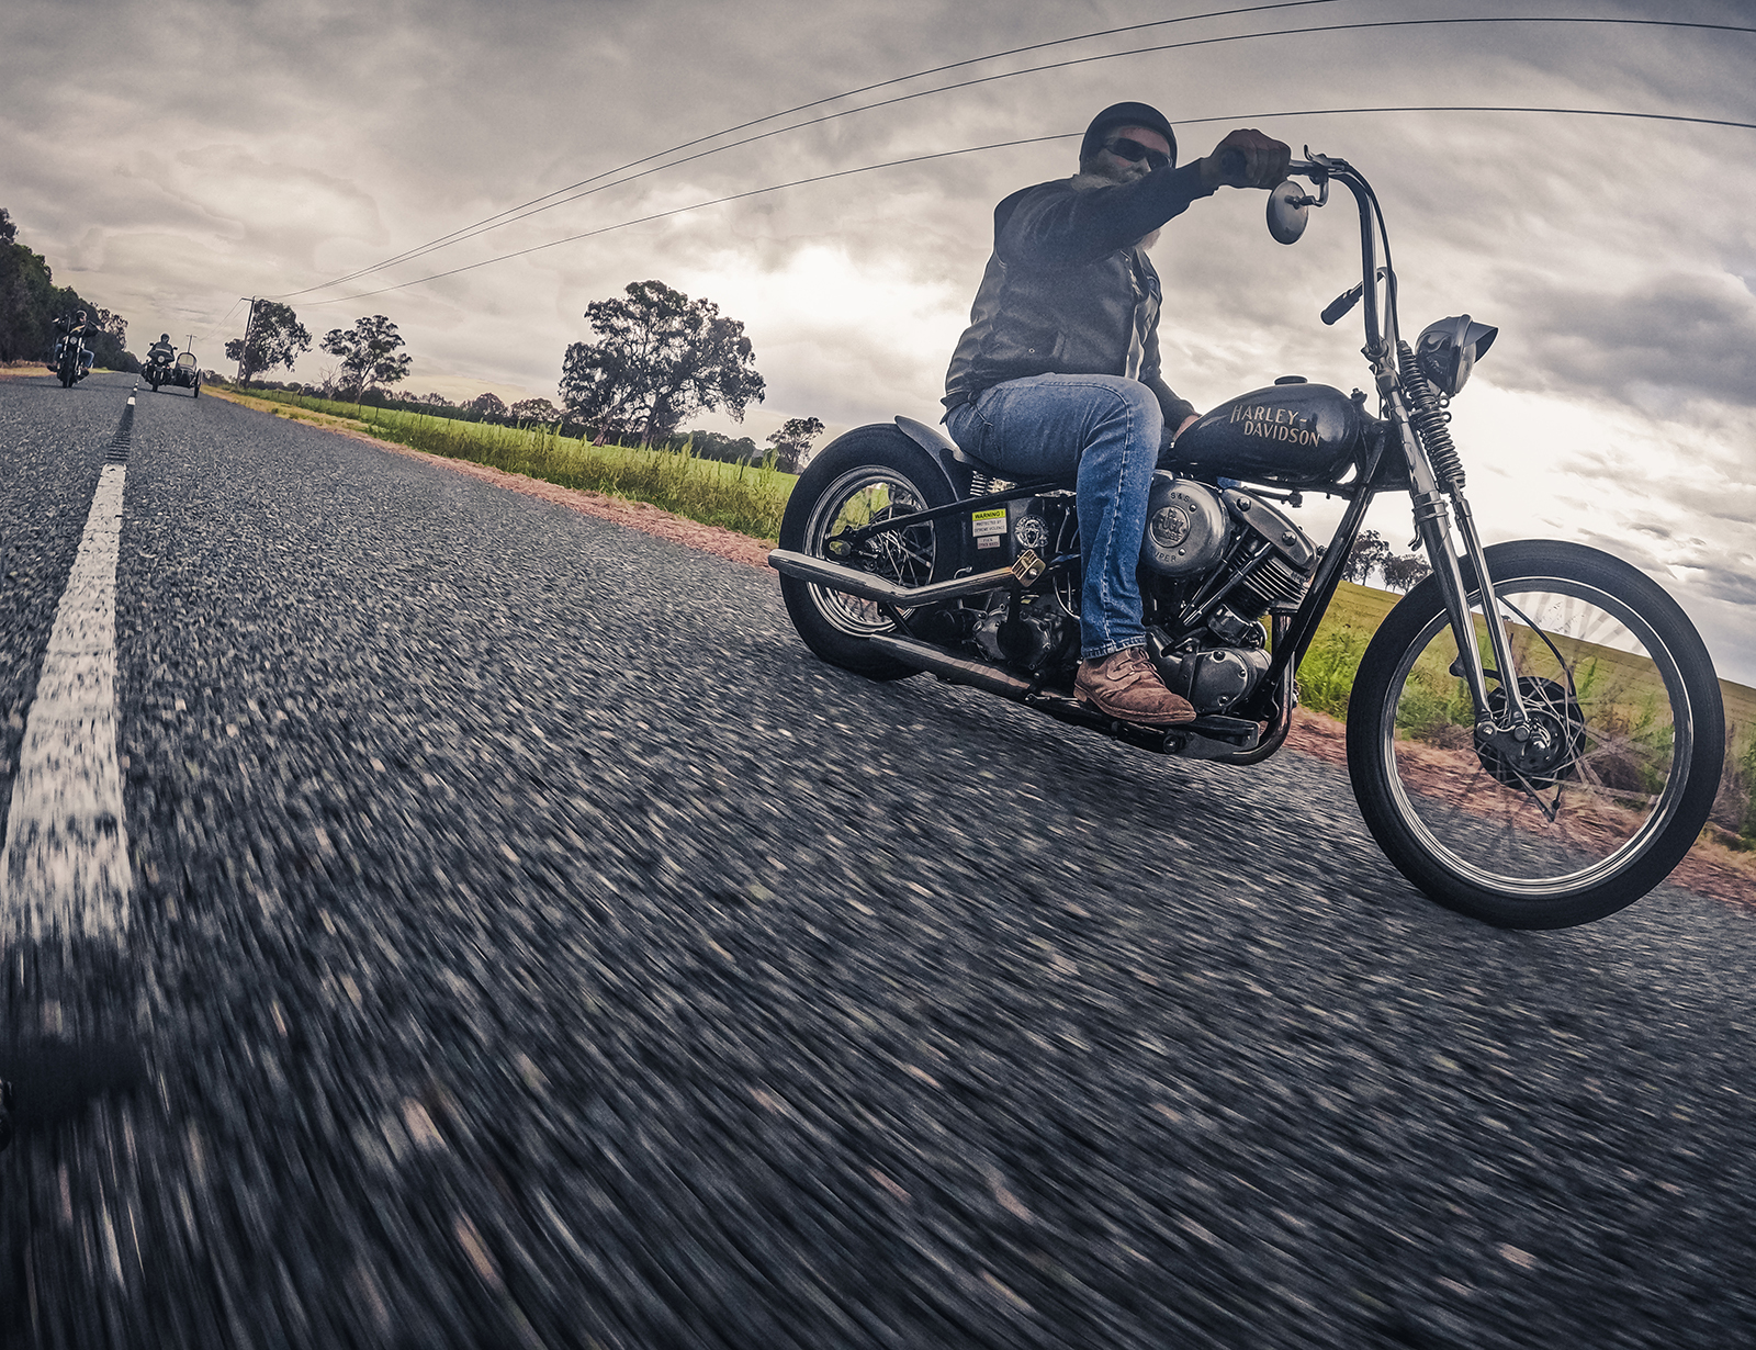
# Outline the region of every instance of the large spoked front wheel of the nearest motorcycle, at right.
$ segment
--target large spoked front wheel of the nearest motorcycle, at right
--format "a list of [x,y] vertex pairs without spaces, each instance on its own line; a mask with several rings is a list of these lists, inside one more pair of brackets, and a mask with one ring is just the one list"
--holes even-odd
[[[1361,658],[1347,765],[1368,829],[1429,897],[1503,929],[1612,915],[1663,881],[1707,823],[1724,709],[1700,634],[1654,581],[1579,544],[1487,549],[1540,750],[1480,743],[1438,581]],[[1463,567],[1482,662],[1480,586]],[[1489,702],[1505,702],[1489,672]]]

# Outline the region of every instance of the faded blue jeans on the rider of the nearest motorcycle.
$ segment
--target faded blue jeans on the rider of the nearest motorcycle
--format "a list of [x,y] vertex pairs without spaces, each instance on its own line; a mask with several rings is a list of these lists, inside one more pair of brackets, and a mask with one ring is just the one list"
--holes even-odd
[[1080,657],[1143,646],[1140,541],[1164,413],[1124,376],[1010,379],[954,407],[945,427],[966,455],[1008,478],[1073,481],[1080,511]]

